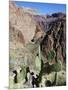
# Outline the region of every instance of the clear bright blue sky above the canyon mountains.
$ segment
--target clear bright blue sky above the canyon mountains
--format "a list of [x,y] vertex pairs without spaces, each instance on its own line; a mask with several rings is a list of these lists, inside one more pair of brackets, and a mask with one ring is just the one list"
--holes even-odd
[[53,4],[53,3],[38,3],[38,2],[25,2],[25,1],[15,1],[16,5],[19,7],[28,7],[36,9],[38,14],[52,14],[55,12],[66,13],[65,4]]

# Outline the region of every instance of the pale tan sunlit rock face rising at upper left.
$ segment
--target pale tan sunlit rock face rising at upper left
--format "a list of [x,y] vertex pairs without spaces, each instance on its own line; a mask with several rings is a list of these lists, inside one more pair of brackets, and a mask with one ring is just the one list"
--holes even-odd
[[25,41],[24,44],[28,43],[32,39],[36,28],[35,22],[32,20],[32,15],[24,12],[23,8],[17,8],[12,2],[10,2],[9,9],[9,22],[11,27],[15,29],[15,33],[19,31],[19,34],[22,34],[21,36]]

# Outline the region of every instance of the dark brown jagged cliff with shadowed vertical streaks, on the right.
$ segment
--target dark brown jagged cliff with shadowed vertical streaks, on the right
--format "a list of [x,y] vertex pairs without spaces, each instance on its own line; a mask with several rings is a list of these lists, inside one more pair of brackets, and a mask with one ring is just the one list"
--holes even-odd
[[51,50],[55,51],[54,59],[60,59],[62,62],[66,62],[66,20],[65,17],[57,19],[54,22],[51,22],[48,27],[49,31],[46,32],[46,35],[41,43],[41,50],[44,56],[48,59],[48,54]]

